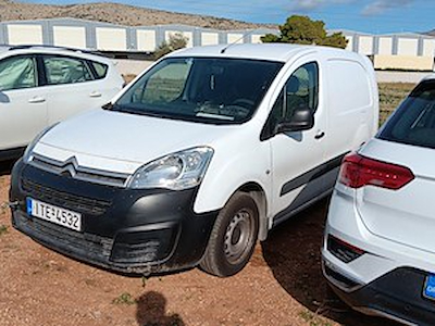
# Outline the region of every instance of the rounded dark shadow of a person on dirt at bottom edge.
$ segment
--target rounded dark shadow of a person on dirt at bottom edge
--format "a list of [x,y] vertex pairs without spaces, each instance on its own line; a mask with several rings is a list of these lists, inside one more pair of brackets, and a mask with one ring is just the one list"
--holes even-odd
[[146,292],[136,302],[136,321],[140,326],[186,325],[178,314],[166,314],[166,299],[159,292]]

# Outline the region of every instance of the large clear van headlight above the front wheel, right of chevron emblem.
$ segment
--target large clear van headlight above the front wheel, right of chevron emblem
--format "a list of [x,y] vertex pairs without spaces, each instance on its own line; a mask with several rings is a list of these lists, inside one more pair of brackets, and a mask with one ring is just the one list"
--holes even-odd
[[183,190],[201,183],[213,150],[197,147],[169,154],[139,167],[128,183],[132,189]]

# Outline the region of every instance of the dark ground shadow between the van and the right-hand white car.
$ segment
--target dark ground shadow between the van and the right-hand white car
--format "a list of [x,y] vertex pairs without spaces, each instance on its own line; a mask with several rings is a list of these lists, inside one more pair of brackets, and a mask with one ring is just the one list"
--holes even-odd
[[322,315],[343,325],[384,325],[396,323],[369,317],[350,310],[327,287],[321,269],[321,246],[328,200],[323,200],[276,227],[262,242],[264,260],[279,285],[307,308],[301,316],[311,325]]

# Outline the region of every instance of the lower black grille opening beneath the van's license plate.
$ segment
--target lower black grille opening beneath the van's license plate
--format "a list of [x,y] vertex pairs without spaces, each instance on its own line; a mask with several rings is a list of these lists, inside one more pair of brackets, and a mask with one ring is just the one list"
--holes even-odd
[[18,228],[47,244],[54,243],[62,251],[76,252],[85,256],[94,256],[109,261],[113,239],[90,234],[80,234],[57,224],[38,218],[26,218],[21,215]]

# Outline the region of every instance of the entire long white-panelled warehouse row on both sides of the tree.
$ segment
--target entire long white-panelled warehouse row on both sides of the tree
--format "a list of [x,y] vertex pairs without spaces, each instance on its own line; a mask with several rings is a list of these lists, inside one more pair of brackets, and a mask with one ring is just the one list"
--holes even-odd
[[[331,30],[337,32],[337,30]],[[347,50],[369,55],[377,70],[433,71],[435,37],[399,33],[371,35],[340,30]],[[0,45],[50,45],[99,50],[114,55],[151,53],[171,35],[182,34],[187,47],[219,43],[258,43],[275,29],[217,30],[186,25],[120,26],[76,18],[0,23]]]

